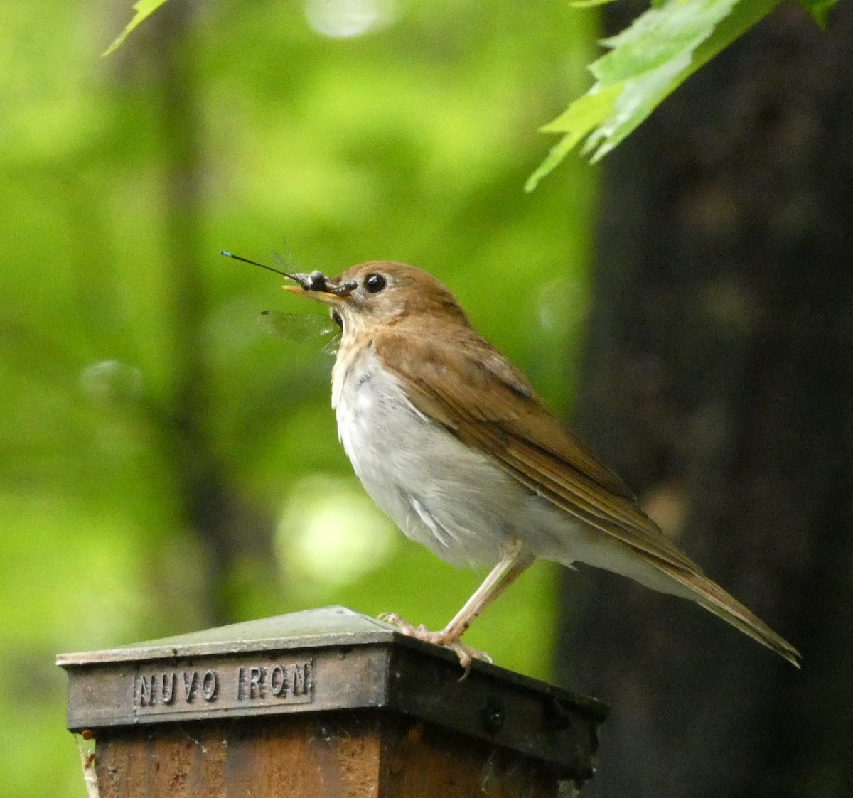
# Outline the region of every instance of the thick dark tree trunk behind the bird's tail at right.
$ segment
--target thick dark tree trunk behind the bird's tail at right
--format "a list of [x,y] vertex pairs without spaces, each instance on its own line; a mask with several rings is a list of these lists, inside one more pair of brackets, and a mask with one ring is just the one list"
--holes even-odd
[[613,706],[595,795],[853,795],[853,4],[777,9],[603,178],[577,429],[804,666],[567,574],[560,679]]

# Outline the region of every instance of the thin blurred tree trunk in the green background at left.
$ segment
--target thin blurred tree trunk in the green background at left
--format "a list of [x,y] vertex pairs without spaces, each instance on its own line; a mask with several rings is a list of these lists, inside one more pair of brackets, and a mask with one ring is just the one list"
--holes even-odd
[[[173,394],[152,408],[160,446],[171,460],[177,502],[186,529],[200,543],[198,606],[186,615],[205,626],[235,621],[234,577],[242,561],[268,565],[272,522],[252,506],[222,458],[212,430],[212,379],[203,341],[213,301],[204,275],[202,222],[202,130],[200,89],[195,74],[194,0],[173,0],[142,26],[119,59],[147,67],[151,107],[160,121],[162,200],[166,266],[170,292],[161,312],[171,319]],[[127,55],[138,49],[140,57]],[[123,55],[121,55],[123,54]],[[256,575],[263,573],[260,567]]]

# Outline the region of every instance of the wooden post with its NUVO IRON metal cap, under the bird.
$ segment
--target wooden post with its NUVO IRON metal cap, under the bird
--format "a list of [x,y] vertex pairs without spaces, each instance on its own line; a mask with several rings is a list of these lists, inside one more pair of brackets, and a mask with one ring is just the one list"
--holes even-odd
[[344,607],[58,664],[101,798],[556,796],[607,711]]

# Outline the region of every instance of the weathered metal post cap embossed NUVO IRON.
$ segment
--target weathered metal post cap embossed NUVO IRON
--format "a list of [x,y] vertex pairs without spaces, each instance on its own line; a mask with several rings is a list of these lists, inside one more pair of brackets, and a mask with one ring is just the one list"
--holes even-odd
[[[588,778],[606,707],[328,607],[61,655],[72,731],[380,708]],[[464,675],[464,678],[462,676]]]

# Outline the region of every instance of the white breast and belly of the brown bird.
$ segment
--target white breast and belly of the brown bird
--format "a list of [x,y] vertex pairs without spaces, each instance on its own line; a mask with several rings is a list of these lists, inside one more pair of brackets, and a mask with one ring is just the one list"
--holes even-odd
[[373,350],[339,354],[332,406],[364,489],[409,538],[453,564],[500,558],[528,491],[419,413]]

